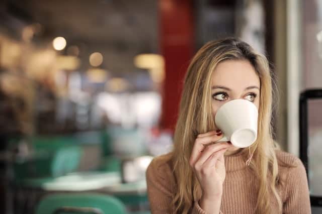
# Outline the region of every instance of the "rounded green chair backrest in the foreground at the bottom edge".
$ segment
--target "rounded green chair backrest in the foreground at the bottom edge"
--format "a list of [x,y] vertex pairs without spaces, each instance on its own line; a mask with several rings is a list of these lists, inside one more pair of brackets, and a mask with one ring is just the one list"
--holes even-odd
[[[84,210],[88,211],[77,211],[77,208],[82,207]],[[63,212],[59,212],[59,210]],[[120,200],[110,195],[97,193],[57,193],[47,195],[41,199],[35,213],[126,214],[127,212],[125,205]]]

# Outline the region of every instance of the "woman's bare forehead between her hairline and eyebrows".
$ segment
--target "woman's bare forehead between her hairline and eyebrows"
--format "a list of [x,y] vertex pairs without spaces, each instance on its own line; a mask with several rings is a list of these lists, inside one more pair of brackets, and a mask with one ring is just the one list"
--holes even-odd
[[244,90],[250,85],[260,87],[260,78],[249,61],[226,60],[220,62],[212,74],[214,85]]

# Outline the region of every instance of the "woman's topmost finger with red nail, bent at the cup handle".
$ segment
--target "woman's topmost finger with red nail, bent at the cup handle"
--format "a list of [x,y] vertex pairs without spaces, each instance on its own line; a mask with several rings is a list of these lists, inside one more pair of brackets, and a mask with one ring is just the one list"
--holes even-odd
[[[218,135],[221,133],[218,133]],[[190,156],[190,165],[193,165],[198,157],[200,156],[200,152],[204,150],[205,145],[210,144],[212,142],[216,142],[222,138],[222,134],[218,136],[217,134],[212,133],[211,135],[205,137],[198,137],[193,146],[191,156]]]

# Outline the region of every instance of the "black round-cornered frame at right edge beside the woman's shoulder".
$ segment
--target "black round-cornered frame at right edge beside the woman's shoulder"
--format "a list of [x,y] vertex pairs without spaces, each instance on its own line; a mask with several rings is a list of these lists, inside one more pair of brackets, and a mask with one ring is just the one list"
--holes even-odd
[[[322,99],[322,89],[308,89],[300,93],[299,99],[299,134],[300,134],[300,159],[306,169],[306,176],[308,180],[308,135],[307,135],[307,100],[308,99]],[[312,206],[322,206],[322,196],[311,196],[310,201]]]

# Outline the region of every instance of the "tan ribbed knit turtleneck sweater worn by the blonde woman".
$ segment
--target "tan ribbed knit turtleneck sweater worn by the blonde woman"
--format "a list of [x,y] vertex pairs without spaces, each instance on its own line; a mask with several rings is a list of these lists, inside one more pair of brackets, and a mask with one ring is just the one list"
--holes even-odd
[[[311,213],[307,178],[302,162],[297,157],[278,150],[276,156],[279,163],[277,190],[283,202],[283,213]],[[225,156],[226,178],[220,207],[224,214],[254,213],[258,184],[254,173],[245,162],[240,152]],[[154,158],[147,169],[147,191],[152,214],[174,213],[175,207],[171,204],[177,185],[172,171],[170,154]],[[278,213],[276,200],[271,201],[272,210]],[[198,200],[190,210],[193,214],[205,213]]]

